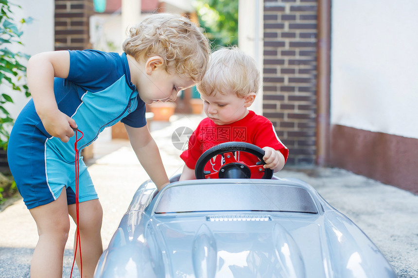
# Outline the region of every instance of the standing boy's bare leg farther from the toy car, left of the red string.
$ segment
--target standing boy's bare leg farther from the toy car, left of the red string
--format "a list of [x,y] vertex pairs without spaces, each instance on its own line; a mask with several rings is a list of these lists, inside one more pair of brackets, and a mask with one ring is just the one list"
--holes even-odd
[[62,260],[70,230],[66,191],[55,201],[29,211],[39,234],[32,256],[31,278],[62,278]]

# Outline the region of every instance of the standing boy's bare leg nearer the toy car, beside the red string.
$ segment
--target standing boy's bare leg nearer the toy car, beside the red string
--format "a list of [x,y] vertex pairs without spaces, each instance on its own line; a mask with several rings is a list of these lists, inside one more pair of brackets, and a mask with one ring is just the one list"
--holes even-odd
[[[75,204],[68,206],[69,213],[77,223]],[[102,245],[102,205],[98,199],[82,202],[79,204],[79,226],[81,239],[81,259],[83,263],[83,278],[92,278],[96,264],[103,253]],[[77,231],[74,235],[74,250]],[[80,247],[77,247],[75,260],[80,270]]]

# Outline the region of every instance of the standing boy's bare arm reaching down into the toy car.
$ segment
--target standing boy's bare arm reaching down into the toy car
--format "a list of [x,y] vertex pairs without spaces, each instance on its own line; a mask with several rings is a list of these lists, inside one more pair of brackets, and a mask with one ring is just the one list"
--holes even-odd
[[157,144],[151,136],[148,127],[133,128],[125,125],[125,128],[140,164],[157,185],[158,191],[160,191],[169,184],[169,180],[162,164]]

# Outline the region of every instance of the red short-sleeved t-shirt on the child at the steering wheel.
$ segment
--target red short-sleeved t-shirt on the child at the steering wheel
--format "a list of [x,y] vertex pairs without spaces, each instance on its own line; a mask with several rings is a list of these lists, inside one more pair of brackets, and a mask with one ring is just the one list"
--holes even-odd
[[[193,131],[189,139],[189,147],[180,155],[180,158],[189,168],[194,169],[197,160],[206,150],[221,143],[232,141],[247,142],[261,148],[272,147],[283,154],[285,161],[289,154],[288,148],[281,143],[277,136],[273,124],[266,117],[249,111],[244,118],[228,125],[219,126],[209,118],[203,119],[196,130]],[[238,151],[235,156],[249,165],[258,162],[257,157],[244,152],[240,153]],[[205,170],[218,171],[224,163],[223,158],[218,155],[206,164]],[[251,176],[251,178],[258,177]]]

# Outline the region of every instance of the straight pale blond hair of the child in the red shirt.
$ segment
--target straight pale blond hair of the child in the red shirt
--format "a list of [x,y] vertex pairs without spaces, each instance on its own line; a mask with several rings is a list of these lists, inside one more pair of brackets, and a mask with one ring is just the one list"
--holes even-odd
[[197,84],[201,94],[235,93],[243,98],[259,89],[260,72],[256,62],[237,47],[220,48],[209,58],[208,70]]

